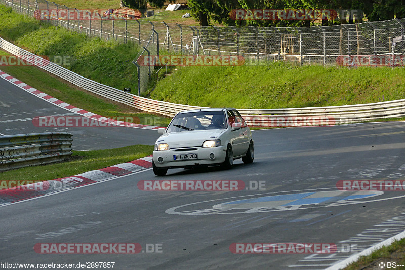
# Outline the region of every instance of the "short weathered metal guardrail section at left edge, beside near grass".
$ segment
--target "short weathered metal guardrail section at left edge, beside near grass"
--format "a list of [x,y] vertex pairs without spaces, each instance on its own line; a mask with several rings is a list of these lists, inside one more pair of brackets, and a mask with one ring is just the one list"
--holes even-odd
[[0,171],[64,160],[71,145],[72,134],[63,132],[0,136]]

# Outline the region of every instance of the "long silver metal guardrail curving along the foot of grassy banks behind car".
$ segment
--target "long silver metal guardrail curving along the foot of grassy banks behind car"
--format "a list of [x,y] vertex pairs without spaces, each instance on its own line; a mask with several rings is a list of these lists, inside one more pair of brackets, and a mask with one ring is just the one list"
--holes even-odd
[[[14,55],[35,56],[34,54],[21,49],[18,46],[3,40],[2,38],[0,38],[0,48]],[[38,59],[38,56],[35,57]],[[32,64],[35,63],[32,62]],[[173,117],[180,111],[205,108],[158,101],[136,96],[131,93],[126,93],[122,90],[118,90],[84,78],[83,76],[80,76],[52,62],[39,67],[52,74],[60,76],[64,80],[85,90],[146,112]],[[274,119],[279,117],[328,117],[329,119],[333,120],[334,124],[347,124],[358,121],[403,117],[405,116],[404,105],[405,99],[401,99],[370,104],[331,107],[238,110],[244,116],[244,118],[246,118],[248,125],[253,126],[273,126]],[[297,121],[299,121],[299,119]]]

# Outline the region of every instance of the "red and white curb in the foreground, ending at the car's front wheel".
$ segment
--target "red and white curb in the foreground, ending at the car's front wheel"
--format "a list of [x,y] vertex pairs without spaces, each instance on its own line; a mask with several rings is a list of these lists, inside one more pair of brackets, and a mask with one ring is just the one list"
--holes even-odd
[[152,156],[117,164],[100,170],[80,173],[78,175],[48,180],[19,187],[0,190],[0,207],[21,202],[55,192],[66,191],[79,186],[140,172],[152,167]]

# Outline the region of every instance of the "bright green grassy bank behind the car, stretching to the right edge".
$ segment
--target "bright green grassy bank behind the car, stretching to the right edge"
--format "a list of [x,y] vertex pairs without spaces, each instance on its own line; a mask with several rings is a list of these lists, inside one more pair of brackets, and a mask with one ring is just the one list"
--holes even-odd
[[294,66],[179,67],[151,98],[188,105],[295,108],[405,98],[405,69]]

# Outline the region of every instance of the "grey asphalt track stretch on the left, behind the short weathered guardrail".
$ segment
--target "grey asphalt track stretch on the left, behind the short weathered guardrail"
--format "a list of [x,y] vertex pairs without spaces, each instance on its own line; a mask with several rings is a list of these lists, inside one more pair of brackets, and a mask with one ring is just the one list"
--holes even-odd
[[[50,115],[78,115],[0,79],[0,134],[69,132],[74,150],[98,150],[135,144],[153,145],[159,137],[155,130],[128,127],[35,127],[32,118]],[[113,116],[113,115],[111,115]]]

